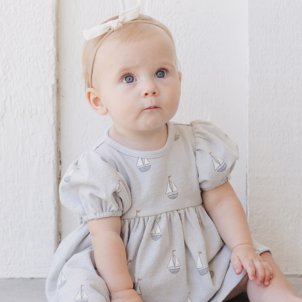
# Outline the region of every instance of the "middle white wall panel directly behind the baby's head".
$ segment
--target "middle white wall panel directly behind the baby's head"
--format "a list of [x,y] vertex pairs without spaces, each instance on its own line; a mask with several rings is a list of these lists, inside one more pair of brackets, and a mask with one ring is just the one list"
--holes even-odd
[[[246,204],[247,1],[202,0],[59,2],[59,102],[63,175],[69,164],[91,148],[112,124],[96,114],[81,82],[82,30],[100,24],[137,3],[141,12],[172,31],[182,70],[182,96],[173,120],[211,120],[239,145],[232,173],[240,200]],[[77,226],[77,217],[61,207],[61,235]]]

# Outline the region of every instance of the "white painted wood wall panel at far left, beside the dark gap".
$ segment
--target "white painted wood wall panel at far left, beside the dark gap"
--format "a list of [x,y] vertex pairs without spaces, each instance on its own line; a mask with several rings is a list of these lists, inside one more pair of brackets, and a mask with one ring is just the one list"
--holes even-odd
[[0,2],[0,278],[45,277],[57,243],[55,3]]

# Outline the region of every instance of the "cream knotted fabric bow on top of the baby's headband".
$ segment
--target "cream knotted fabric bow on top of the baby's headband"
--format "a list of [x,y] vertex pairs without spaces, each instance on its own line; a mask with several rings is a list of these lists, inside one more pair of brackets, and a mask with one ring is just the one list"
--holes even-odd
[[123,23],[132,21],[138,17],[140,14],[140,6],[136,5],[132,8],[126,9],[125,11],[122,11],[120,15],[118,16],[118,19],[108,21],[107,23],[97,25],[95,27],[92,27],[90,29],[86,29],[83,31],[83,35],[87,41],[96,38],[98,36],[101,36],[102,34],[107,33],[107,31],[123,26]]

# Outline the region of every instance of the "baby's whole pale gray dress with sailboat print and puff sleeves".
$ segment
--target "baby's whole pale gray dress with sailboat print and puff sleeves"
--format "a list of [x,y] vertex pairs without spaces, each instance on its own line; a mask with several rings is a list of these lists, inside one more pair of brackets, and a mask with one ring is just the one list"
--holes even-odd
[[143,302],[223,301],[246,271],[234,273],[201,191],[228,181],[237,159],[237,145],[206,121],[169,122],[168,140],[156,151],[129,149],[106,133],[60,184],[61,202],[79,215],[79,226],[56,251],[48,301],[110,302],[86,222],[110,216],[121,218],[129,273]]

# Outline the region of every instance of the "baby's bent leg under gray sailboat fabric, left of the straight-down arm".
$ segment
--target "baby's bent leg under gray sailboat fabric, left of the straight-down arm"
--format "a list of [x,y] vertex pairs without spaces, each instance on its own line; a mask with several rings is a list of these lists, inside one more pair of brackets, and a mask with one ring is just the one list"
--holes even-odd
[[94,263],[92,247],[73,255],[66,262],[56,288],[57,302],[110,302],[110,292]]

